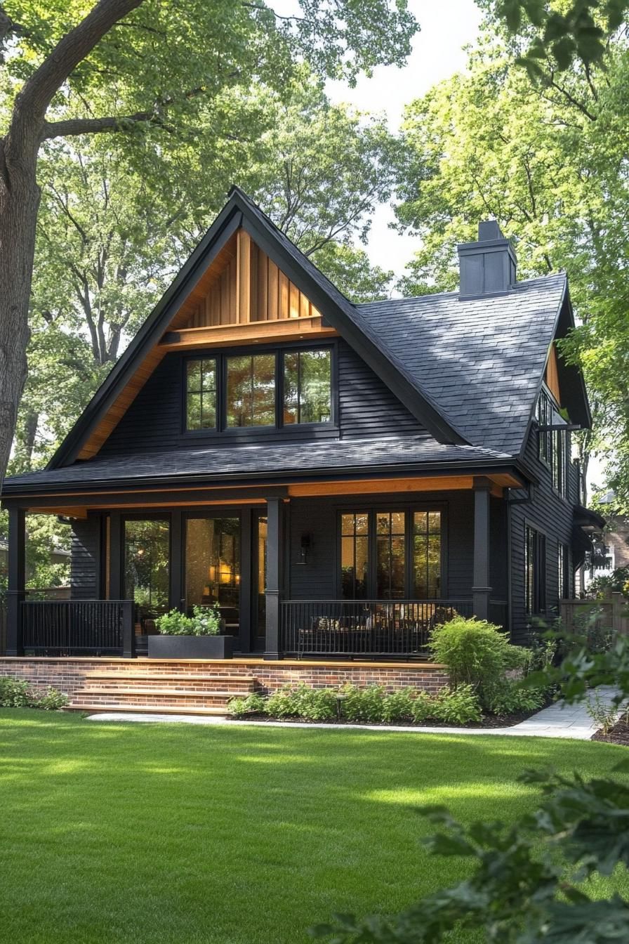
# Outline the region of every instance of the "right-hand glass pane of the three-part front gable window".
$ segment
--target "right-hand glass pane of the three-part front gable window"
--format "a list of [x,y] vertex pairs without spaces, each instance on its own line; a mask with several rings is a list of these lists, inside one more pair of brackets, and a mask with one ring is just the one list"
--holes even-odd
[[284,423],[329,423],[332,353],[292,351],[284,355]]

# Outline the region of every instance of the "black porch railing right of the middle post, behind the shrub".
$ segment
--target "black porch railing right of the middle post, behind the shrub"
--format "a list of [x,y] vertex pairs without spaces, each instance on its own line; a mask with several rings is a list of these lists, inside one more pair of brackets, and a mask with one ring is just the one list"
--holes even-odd
[[286,655],[425,656],[430,632],[472,599],[285,600],[280,646]]

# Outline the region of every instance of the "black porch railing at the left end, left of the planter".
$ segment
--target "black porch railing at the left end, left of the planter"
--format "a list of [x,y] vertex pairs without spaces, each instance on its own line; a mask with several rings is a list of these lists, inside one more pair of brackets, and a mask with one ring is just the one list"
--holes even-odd
[[133,602],[27,599],[20,604],[22,647],[36,655],[134,655]]

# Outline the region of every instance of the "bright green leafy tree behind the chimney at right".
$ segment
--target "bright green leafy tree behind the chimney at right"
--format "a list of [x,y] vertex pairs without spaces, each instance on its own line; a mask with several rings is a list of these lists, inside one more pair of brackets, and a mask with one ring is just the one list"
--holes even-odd
[[[398,216],[422,239],[405,294],[456,285],[455,244],[495,217],[517,245],[520,278],[565,270],[581,327],[564,343],[581,359],[617,494],[629,501],[629,259],[625,225],[629,53],[610,42],[601,66],[575,63],[534,85],[504,35],[488,25],[469,70],[406,111],[403,201]],[[613,443],[612,455],[609,445]]]

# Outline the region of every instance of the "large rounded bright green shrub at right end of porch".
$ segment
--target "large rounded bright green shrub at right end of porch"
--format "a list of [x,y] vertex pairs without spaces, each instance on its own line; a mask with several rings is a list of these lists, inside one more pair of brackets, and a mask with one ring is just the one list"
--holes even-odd
[[500,627],[463,616],[436,626],[428,647],[437,662],[447,666],[453,686],[473,685],[481,700],[508,669],[521,668],[527,659],[523,649],[511,646]]

